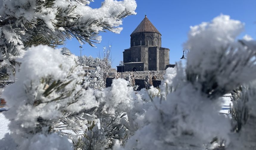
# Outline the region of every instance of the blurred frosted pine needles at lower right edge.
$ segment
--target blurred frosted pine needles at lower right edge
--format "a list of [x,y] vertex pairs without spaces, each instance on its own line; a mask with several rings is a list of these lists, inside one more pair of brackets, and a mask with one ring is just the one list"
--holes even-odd
[[[256,46],[256,45],[255,45]],[[256,81],[232,92],[231,143],[227,150],[256,149]]]

